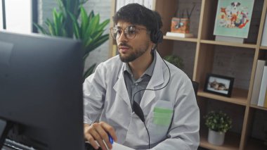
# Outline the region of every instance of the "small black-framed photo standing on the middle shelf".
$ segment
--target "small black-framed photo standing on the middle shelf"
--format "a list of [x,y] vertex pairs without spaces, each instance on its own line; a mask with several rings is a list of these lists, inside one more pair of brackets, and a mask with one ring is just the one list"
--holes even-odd
[[204,85],[204,92],[230,97],[233,89],[233,82],[233,77],[208,73]]

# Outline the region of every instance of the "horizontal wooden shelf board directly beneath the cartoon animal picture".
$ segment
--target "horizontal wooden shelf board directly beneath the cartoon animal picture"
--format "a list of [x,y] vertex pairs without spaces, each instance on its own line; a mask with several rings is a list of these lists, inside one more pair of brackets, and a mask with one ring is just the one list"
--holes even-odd
[[242,44],[242,43],[233,43],[233,42],[221,42],[221,41],[213,41],[213,40],[205,40],[205,39],[201,39],[200,43],[256,49],[256,44]]

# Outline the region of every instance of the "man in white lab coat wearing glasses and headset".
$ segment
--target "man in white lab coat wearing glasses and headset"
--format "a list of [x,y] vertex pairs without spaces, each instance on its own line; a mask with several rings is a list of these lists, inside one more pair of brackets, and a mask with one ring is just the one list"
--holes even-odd
[[100,63],[84,82],[85,138],[95,149],[95,140],[112,148],[108,135],[133,149],[197,149],[200,113],[192,83],[155,51],[160,15],[128,4],[113,20],[119,56]]

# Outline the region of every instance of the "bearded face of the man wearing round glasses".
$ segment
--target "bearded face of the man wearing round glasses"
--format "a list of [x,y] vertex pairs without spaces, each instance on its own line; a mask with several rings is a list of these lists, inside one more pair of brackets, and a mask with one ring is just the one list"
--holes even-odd
[[129,63],[150,51],[152,42],[145,26],[119,21],[116,28],[119,30],[116,41],[122,62]]

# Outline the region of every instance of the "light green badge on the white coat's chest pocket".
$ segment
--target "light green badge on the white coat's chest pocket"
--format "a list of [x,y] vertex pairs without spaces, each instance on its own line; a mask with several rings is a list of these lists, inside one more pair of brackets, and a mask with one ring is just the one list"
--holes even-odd
[[169,125],[171,123],[173,110],[155,107],[153,113],[153,123],[155,125]]

